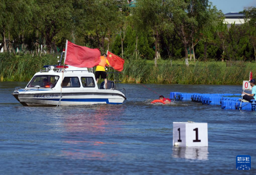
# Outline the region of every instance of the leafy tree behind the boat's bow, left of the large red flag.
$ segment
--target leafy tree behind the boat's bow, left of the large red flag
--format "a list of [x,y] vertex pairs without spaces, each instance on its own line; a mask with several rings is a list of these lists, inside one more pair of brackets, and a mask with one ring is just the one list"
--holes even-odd
[[[45,39],[47,52],[56,48],[54,36],[63,30],[70,30],[74,20],[72,0],[35,0],[33,26],[41,34],[41,44]],[[55,50],[55,49],[54,49]],[[56,50],[55,50],[56,51]]]

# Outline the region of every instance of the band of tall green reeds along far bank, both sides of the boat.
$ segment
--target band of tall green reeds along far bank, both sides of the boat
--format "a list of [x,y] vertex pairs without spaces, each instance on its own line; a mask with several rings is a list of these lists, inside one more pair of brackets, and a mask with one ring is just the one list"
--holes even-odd
[[[29,54],[0,54],[0,81],[29,81],[44,65],[56,65],[55,54],[31,56]],[[125,59],[124,70],[120,73],[122,83],[145,84],[232,84],[239,85],[248,80],[250,72],[256,72],[256,63],[244,62],[243,66],[226,66],[221,61],[189,61],[184,59],[157,60]],[[108,72],[113,72],[110,68]],[[108,79],[113,77],[109,73]]]

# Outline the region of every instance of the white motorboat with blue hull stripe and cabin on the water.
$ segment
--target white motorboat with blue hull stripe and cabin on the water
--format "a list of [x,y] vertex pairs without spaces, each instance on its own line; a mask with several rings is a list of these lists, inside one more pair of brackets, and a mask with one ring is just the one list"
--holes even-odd
[[[15,88],[12,95],[24,106],[122,104],[125,89],[118,90],[114,81],[98,88],[90,68],[44,66],[35,73],[26,88]],[[103,82],[102,82],[103,83]],[[103,83],[104,84],[104,83]]]

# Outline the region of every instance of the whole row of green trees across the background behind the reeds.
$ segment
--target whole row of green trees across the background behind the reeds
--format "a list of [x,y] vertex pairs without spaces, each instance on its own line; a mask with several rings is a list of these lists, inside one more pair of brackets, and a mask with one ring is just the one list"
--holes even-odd
[[[63,49],[66,40],[131,56],[256,61],[256,8],[246,24],[223,24],[207,0],[2,0],[0,49],[37,53]],[[42,55],[42,54],[40,54]]]

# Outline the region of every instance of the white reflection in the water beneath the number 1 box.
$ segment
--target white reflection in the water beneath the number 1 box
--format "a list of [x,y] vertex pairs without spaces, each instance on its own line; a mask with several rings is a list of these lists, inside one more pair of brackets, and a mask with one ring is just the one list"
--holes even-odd
[[186,158],[191,160],[208,160],[208,147],[180,147],[173,146],[173,158]]

